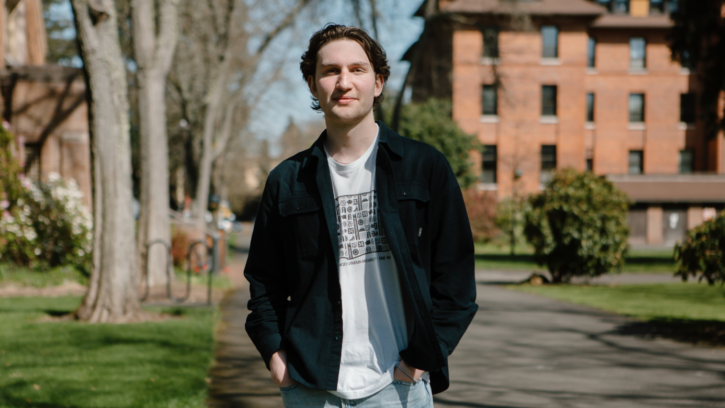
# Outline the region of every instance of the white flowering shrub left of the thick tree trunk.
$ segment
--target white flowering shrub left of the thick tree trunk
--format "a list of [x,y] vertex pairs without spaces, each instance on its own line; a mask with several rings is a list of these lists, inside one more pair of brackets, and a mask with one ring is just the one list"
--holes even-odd
[[[23,182],[23,192],[0,220],[3,260],[48,266],[90,263],[93,222],[74,181],[51,173],[47,182]],[[2,204],[2,203],[0,203]]]

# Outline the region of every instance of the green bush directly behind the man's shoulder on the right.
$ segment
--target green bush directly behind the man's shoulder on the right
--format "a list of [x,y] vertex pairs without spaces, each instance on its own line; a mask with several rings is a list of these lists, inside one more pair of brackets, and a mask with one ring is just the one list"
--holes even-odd
[[480,148],[475,136],[466,134],[453,121],[449,101],[429,99],[403,107],[398,133],[435,147],[446,156],[461,188],[476,182],[472,171],[471,151]]

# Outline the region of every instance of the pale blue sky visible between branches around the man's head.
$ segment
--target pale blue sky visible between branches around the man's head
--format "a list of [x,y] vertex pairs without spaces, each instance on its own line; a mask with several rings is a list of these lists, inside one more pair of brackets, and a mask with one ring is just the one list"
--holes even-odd
[[[423,30],[421,18],[412,17],[423,0],[377,0],[378,31],[382,44],[388,55],[391,75],[386,87],[396,92],[408,70],[409,64],[400,61],[405,51],[420,36]],[[362,1],[365,7],[367,1]],[[318,6],[308,10],[298,22],[284,32],[270,47],[273,52],[283,53],[285,62],[281,68],[281,80],[275,82],[264,92],[257,103],[257,109],[246,131],[254,134],[257,139],[275,141],[289,124],[290,118],[296,123],[323,121],[322,115],[310,108],[310,94],[299,71],[300,56],[305,51],[307,41],[312,34],[326,23],[355,25],[356,18],[350,7],[349,0],[326,0],[324,7]],[[72,19],[70,1],[54,5],[50,11],[58,18]],[[363,14],[369,16],[369,10]],[[364,27],[372,34],[372,26],[365,21]],[[74,30],[67,30],[64,36],[72,38]],[[71,65],[80,66],[81,61],[71,61]],[[262,70],[274,67],[262,67]],[[240,129],[240,132],[243,131]],[[271,152],[274,153],[274,152]]]

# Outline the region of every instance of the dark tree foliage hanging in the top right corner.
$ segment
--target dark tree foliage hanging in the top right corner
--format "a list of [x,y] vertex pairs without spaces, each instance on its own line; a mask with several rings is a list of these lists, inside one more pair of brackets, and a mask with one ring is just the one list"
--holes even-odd
[[670,32],[672,58],[685,67],[696,69],[703,86],[700,93],[700,118],[707,135],[714,137],[725,128],[718,115],[718,97],[725,91],[725,18],[723,0],[680,0]]

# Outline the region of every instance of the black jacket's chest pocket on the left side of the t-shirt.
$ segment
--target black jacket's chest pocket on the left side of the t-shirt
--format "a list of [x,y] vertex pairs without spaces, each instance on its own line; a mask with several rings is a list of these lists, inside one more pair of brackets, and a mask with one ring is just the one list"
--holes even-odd
[[279,203],[284,236],[280,237],[284,248],[296,248],[300,257],[318,254],[318,243],[322,238],[320,205],[313,197],[292,197]]

